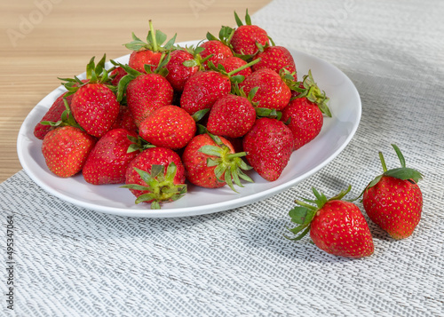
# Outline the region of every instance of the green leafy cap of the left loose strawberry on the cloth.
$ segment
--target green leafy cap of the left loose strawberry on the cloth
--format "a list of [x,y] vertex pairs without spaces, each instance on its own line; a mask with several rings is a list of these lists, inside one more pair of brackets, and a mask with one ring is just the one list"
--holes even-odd
[[[324,194],[319,193],[316,188],[312,187],[312,191],[316,199],[310,200],[301,198],[301,200],[295,200],[295,202],[299,205],[293,208],[292,210],[289,210],[289,218],[291,218],[291,222],[294,224],[297,224],[298,226],[294,228],[287,229],[292,233],[296,234],[297,236],[294,238],[290,238],[286,235],[284,235],[289,240],[301,240],[307,233],[310,232],[311,223],[318,212],[318,210],[321,210],[321,208],[327,203],[331,201],[340,201],[344,198],[346,194],[348,194],[352,189],[352,186],[348,186],[347,189],[341,191],[336,196],[333,196],[331,198],[327,198]],[[313,205],[314,204],[314,205]]]

